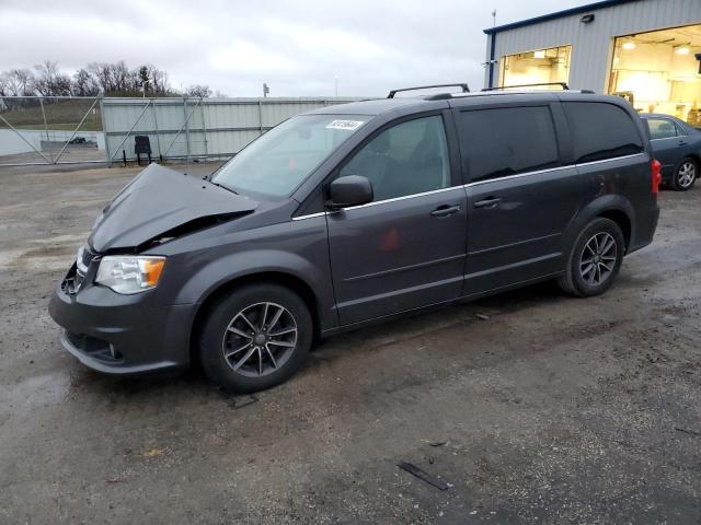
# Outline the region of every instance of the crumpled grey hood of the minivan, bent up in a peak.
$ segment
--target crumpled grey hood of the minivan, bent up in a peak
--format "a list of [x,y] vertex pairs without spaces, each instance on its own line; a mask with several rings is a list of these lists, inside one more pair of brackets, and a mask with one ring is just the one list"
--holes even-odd
[[191,221],[253,211],[257,202],[199,177],[150,164],[95,221],[92,248],[134,248]]

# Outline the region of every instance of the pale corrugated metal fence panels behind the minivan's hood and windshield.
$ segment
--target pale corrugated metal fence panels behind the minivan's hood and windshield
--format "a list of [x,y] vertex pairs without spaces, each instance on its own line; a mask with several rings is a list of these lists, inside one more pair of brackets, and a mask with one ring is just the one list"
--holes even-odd
[[103,98],[107,158],[136,159],[134,137],[146,135],[153,156],[217,158],[238,153],[283,120],[358,98]]

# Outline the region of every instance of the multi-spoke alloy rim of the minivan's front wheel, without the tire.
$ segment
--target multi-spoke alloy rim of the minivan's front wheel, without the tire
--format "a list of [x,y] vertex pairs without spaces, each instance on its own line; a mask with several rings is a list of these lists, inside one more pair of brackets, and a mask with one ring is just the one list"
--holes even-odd
[[297,347],[297,322],[286,307],[256,303],[233,316],[223,335],[221,350],[235,373],[262,377],[277,371]]

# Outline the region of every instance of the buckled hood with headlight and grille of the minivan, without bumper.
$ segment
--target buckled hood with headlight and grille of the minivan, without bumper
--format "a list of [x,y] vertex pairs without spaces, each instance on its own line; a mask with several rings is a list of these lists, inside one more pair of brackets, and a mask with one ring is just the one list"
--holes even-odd
[[156,288],[165,260],[139,254],[256,207],[256,201],[205,179],[151,164],[102,211],[60,289],[72,296],[85,281],[122,294]]

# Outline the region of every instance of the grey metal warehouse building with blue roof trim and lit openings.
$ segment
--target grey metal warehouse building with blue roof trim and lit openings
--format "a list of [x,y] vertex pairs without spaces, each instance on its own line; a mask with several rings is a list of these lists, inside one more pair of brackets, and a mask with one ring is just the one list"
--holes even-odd
[[701,125],[701,0],[608,0],[484,32],[486,88],[566,82]]

